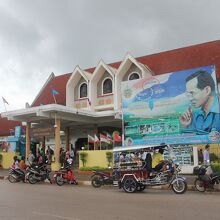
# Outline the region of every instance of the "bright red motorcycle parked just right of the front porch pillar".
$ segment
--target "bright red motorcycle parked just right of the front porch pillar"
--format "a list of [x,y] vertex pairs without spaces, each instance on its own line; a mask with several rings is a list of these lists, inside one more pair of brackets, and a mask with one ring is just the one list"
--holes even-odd
[[58,186],[62,186],[64,183],[70,183],[74,185],[78,184],[74,173],[71,170],[71,165],[56,171],[53,177]]

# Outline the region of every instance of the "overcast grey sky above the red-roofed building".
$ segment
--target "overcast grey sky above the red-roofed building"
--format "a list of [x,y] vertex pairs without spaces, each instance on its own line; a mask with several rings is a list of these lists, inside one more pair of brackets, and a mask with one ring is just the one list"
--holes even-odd
[[1,0],[0,98],[21,109],[52,72],[219,40],[219,8],[219,0]]

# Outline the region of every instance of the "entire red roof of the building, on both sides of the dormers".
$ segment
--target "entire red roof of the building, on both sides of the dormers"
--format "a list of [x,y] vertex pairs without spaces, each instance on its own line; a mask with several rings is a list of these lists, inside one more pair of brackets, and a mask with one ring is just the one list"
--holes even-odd
[[[140,63],[148,66],[156,75],[215,65],[217,78],[220,79],[220,40],[142,56],[136,59]],[[109,65],[118,69],[120,64],[121,61]],[[94,70],[95,67],[86,69],[86,71],[90,73],[93,73]],[[53,78],[46,85],[32,106],[54,103],[51,88],[59,92],[59,94],[56,95],[57,103],[65,105],[66,84],[70,76],[71,73],[68,73]]]

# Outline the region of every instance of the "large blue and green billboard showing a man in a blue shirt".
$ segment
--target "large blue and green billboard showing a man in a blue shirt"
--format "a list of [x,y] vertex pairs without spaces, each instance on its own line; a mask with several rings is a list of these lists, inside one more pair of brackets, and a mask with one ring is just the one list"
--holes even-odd
[[124,145],[220,143],[215,67],[122,82]]

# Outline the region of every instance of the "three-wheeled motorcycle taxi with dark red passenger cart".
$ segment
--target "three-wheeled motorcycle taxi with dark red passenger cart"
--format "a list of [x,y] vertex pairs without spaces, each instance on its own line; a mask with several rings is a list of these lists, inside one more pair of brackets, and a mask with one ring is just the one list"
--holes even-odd
[[172,160],[164,161],[159,171],[147,169],[145,163],[119,162],[117,164],[117,180],[119,188],[127,193],[143,191],[147,186],[159,186],[169,184],[169,187],[177,194],[183,194],[187,190],[184,177],[179,176],[181,168]]

